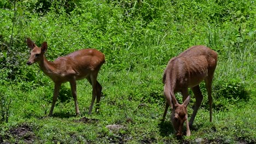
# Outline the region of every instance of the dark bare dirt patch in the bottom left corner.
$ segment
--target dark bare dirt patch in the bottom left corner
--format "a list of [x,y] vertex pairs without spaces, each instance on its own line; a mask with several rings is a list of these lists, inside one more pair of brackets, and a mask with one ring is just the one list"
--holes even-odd
[[34,141],[37,140],[31,126],[27,124],[22,124],[16,128],[10,129],[9,134],[11,134],[17,141],[23,140],[25,143],[34,143]]

